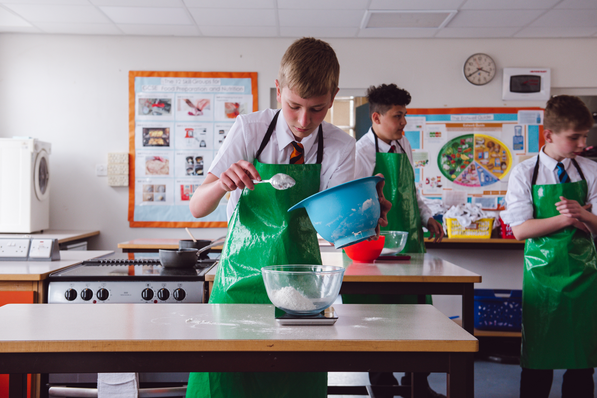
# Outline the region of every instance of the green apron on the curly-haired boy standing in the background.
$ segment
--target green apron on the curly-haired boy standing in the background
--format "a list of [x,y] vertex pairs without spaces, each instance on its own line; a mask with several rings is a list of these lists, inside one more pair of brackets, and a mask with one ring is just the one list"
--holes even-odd
[[[392,203],[387,213],[387,226],[381,231],[407,231],[408,241],[401,253],[426,253],[421,226],[421,213],[418,211],[417,192],[414,186],[413,165],[399,145],[402,153],[383,153],[379,151],[377,135],[375,137],[376,165],[373,175],[383,174],[386,184],[383,194]],[[397,141],[396,141],[397,142]],[[431,304],[431,296],[425,301]],[[343,294],[346,304],[417,304],[414,294]]]

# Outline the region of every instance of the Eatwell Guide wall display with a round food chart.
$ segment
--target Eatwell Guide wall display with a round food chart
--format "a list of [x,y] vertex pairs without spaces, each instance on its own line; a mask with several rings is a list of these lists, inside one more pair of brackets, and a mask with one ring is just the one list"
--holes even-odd
[[540,108],[409,109],[407,123],[421,194],[484,209],[503,209],[510,170],[543,144]]

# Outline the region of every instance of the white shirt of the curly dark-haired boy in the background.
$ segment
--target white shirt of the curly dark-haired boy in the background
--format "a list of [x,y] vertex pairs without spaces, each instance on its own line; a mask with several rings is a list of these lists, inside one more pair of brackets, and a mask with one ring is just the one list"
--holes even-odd
[[[378,139],[377,141],[380,152],[387,152],[390,150],[391,146],[386,144],[386,142],[384,142],[382,139]],[[414,172],[413,148],[411,148],[410,142],[408,142],[408,139],[404,135],[401,139],[392,141],[391,144],[396,145],[396,153],[402,152],[396,142],[398,142],[400,145],[402,145],[402,148],[404,148],[408,160],[410,161],[411,166],[413,166]],[[371,128],[369,128],[367,134],[362,136],[361,139],[356,142],[355,179],[372,176],[373,170],[375,169],[375,164],[375,136],[373,135]],[[421,198],[421,195],[419,195],[418,189],[415,188],[415,192],[417,194],[418,211],[421,213],[421,223],[423,223],[424,227],[427,227],[427,222],[429,221],[430,217],[433,217],[433,212],[423,202],[423,198]]]

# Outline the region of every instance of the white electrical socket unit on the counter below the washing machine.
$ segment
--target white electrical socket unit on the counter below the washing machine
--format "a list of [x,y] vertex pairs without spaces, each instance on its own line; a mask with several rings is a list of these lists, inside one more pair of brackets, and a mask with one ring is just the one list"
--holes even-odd
[[0,261],[60,260],[57,239],[0,238]]

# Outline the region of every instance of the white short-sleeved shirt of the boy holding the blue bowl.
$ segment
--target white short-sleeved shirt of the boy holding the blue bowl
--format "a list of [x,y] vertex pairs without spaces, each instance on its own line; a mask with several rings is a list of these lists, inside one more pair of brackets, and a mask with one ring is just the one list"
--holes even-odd
[[[267,127],[277,111],[277,109],[266,109],[237,116],[208,172],[220,178],[221,173],[241,159],[253,163]],[[355,175],[355,139],[327,122],[322,122],[322,130],[324,158],[321,162],[319,191],[352,181]],[[317,162],[318,132],[319,128],[316,128],[300,142],[304,147],[304,163]],[[276,128],[257,160],[260,163],[289,164],[290,154],[293,151],[290,143],[293,141],[295,141],[293,132],[280,110]],[[229,220],[241,197],[241,192],[241,189],[230,192],[230,200],[226,207]]]

